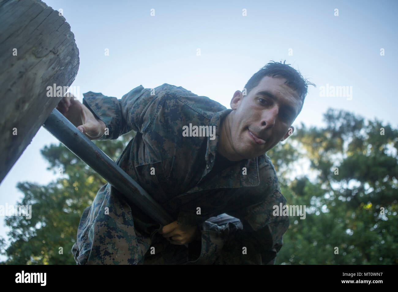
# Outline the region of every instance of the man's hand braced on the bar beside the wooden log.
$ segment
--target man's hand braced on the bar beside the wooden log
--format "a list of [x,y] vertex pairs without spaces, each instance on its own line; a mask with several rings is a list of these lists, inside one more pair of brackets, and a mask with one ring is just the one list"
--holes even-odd
[[74,100],[72,94],[66,93],[56,108],[88,139],[100,139],[105,133],[105,123],[100,119],[97,120],[92,112],[80,101]]

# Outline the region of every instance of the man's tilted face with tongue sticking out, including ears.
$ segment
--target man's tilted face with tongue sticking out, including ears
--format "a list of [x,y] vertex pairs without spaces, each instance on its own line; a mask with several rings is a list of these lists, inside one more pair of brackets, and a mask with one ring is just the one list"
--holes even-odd
[[241,159],[262,155],[293,133],[291,124],[301,100],[285,81],[283,77],[265,76],[248,95],[234,93],[230,137],[232,151]]

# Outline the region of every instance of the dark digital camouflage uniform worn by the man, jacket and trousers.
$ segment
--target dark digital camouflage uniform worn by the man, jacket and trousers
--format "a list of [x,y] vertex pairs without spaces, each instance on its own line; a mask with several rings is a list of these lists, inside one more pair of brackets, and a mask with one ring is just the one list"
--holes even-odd
[[[109,129],[100,140],[137,131],[116,163],[178,224],[199,226],[201,242],[188,248],[171,244],[158,234],[162,225],[106,184],[80,220],[72,248],[76,263],[274,263],[289,217],[273,216],[273,206],[285,205],[286,199],[269,157],[237,161],[207,176],[217,155],[220,123],[232,109],[167,83],[154,89],[140,85],[121,100],[90,91],[83,104]],[[214,126],[215,135],[183,135],[189,124],[191,129]],[[208,220],[223,213],[240,219],[243,229],[236,222]]]

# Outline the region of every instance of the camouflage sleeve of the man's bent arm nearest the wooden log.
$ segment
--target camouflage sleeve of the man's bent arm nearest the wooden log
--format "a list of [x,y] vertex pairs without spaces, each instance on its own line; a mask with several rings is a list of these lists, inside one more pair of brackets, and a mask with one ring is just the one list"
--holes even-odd
[[109,135],[105,133],[99,140],[117,139],[131,130],[140,132],[144,113],[156,98],[142,85],[123,95],[122,99],[91,91],[83,96],[83,104],[109,129]]

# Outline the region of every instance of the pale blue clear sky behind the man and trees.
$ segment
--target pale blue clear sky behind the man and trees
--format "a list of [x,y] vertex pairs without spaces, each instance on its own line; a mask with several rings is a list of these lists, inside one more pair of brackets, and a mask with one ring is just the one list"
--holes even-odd
[[[397,1],[44,2],[62,8],[74,33],[80,68],[72,85],[80,101],[88,91],[121,99],[139,85],[169,83],[230,108],[234,92],[262,66],[286,60],[317,86],[308,87],[293,126],[322,126],[333,107],[398,127]],[[320,97],[327,83],[352,86],[352,99]],[[17,182],[57,179],[39,152],[51,143],[59,142],[41,128],[0,184],[0,205],[21,200]]]

